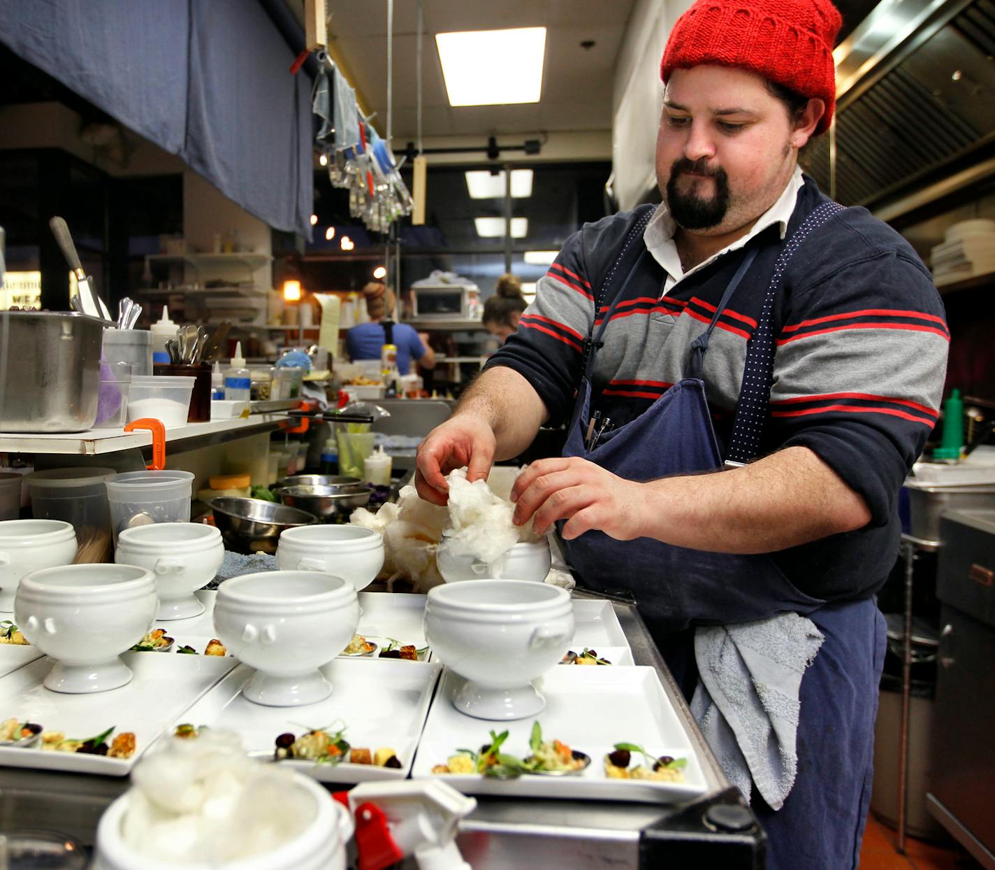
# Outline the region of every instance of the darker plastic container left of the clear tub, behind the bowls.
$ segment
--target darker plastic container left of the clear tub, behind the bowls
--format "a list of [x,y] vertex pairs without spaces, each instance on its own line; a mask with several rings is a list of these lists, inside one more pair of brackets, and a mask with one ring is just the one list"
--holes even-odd
[[109,543],[105,482],[115,473],[112,468],[55,468],[26,475],[32,515],[72,523],[80,544],[101,539]]

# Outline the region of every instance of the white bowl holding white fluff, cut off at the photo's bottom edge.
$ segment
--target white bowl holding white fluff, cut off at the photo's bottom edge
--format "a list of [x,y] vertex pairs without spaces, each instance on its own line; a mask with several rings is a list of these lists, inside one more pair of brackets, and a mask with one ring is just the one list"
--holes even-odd
[[293,771],[291,787],[313,804],[304,829],[275,849],[252,857],[225,861],[170,861],[139,851],[124,839],[124,818],[137,799],[128,791],[110,804],[100,816],[97,828],[96,870],[345,870],[346,843],[352,839],[353,822],[349,810],[333,800],[328,791],[310,776]]

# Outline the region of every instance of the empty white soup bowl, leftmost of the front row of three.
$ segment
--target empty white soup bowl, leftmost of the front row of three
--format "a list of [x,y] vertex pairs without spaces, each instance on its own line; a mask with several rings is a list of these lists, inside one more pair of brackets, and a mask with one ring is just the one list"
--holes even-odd
[[135,565],[72,564],[21,580],[14,620],[56,660],[54,692],[105,692],[131,682],[120,654],[144,637],[159,607],[152,572]]

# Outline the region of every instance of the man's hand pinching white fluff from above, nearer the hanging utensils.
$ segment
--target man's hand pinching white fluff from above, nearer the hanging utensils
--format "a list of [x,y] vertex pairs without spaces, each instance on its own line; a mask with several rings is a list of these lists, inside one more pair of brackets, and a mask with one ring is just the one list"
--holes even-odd
[[437,426],[418,447],[415,488],[434,505],[449,501],[446,475],[468,466],[467,480],[487,480],[494,464],[497,439],[494,430],[475,414],[457,414]]

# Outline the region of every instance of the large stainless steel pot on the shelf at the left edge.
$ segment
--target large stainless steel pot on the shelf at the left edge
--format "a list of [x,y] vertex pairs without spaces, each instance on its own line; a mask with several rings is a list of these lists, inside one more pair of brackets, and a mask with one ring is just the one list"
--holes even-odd
[[102,335],[84,315],[0,312],[0,431],[92,429]]

